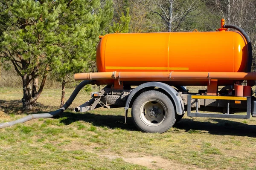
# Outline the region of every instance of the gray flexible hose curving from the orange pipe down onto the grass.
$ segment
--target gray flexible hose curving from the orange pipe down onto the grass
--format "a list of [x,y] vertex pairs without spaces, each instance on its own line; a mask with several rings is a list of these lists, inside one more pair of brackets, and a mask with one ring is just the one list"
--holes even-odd
[[28,115],[28,116],[25,116],[23,118],[20,118],[20,119],[18,119],[16,121],[10,121],[10,122],[1,123],[0,124],[0,129],[1,128],[5,128],[5,127],[11,127],[11,126],[13,126],[15,124],[24,123],[26,121],[30,121],[30,120],[36,119],[36,118],[52,118],[52,117],[54,117],[56,115],[61,114],[62,112],[64,112],[64,110],[66,110],[70,106],[70,104],[72,104],[72,102],[74,101],[74,99],[76,98],[76,95],[80,92],[80,90],[85,85],[90,84],[90,83],[91,83],[91,81],[88,81],[88,80],[82,81],[76,87],[76,89],[73,91],[72,95],[67,100],[67,102],[60,109],[55,110],[54,112],[49,112],[49,113],[32,114],[32,115]]

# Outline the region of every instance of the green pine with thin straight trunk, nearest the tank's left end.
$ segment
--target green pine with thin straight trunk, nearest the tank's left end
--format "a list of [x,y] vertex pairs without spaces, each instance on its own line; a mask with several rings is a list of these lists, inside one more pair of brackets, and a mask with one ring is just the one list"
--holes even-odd
[[62,83],[62,106],[65,86],[73,81],[73,74],[95,71],[96,46],[99,35],[106,34],[113,18],[113,3],[111,0],[58,0],[56,3],[61,4],[61,14],[55,45],[61,48],[61,55],[52,71]]

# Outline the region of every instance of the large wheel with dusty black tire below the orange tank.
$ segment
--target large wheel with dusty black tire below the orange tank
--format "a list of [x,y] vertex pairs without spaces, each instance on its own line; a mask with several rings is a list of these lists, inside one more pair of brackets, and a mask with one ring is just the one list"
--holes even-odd
[[131,108],[131,116],[135,126],[148,133],[164,133],[176,121],[171,99],[156,90],[143,92],[137,97]]

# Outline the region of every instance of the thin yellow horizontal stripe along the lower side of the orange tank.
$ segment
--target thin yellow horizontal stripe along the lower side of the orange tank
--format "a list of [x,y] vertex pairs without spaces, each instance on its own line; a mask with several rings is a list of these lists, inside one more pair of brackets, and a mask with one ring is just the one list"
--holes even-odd
[[154,69],[154,70],[189,70],[188,67],[118,67],[118,66],[106,66],[106,69]]

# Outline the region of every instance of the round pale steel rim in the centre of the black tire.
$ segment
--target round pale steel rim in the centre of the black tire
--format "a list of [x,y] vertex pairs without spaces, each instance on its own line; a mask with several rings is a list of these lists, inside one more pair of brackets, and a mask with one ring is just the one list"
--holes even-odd
[[144,124],[155,127],[166,119],[167,110],[164,104],[156,99],[145,101],[140,107],[140,119]]

